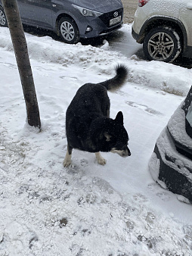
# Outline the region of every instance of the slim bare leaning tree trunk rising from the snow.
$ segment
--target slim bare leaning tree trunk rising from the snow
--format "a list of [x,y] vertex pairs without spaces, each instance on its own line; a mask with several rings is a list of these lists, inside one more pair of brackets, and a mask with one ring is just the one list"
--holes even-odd
[[39,116],[38,101],[36,98],[36,89],[17,0],[2,0],[2,4],[8,20],[12,43],[14,45],[14,53],[26,102],[28,123],[30,126],[36,126],[40,129],[41,120]]

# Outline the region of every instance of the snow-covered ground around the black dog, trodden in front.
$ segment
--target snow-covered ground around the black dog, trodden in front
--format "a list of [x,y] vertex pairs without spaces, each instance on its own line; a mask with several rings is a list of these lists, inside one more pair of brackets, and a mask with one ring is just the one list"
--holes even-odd
[[[138,45],[131,25],[122,32]],[[191,86],[192,71],[127,58],[105,42],[66,45],[26,34],[42,119],[29,127],[7,28],[0,28],[0,255],[190,255],[192,206],[159,187],[147,168],[156,139]],[[139,46],[141,47],[141,46]],[[124,114],[132,156],[73,151],[63,167],[65,112],[76,90],[114,76],[129,79],[109,93],[111,117]]]

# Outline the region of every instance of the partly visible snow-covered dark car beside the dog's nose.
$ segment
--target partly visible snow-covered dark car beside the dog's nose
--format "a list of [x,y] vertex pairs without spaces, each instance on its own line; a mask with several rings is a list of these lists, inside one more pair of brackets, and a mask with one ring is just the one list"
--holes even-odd
[[156,140],[149,170],[156,183],[192,203],[192,86]]

